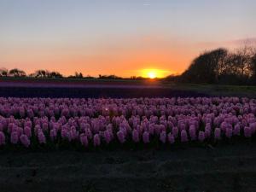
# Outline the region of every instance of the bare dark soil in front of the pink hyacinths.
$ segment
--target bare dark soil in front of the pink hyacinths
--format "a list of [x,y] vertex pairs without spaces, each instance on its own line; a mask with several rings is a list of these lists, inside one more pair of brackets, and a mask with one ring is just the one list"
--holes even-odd
[[0,153],[0,191],[253,192],[256,143]]

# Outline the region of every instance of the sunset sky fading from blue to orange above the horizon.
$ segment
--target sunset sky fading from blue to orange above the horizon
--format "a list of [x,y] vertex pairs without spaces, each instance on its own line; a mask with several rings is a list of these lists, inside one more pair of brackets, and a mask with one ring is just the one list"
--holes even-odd
[[182,73],[205,49],[256,44],[255,0],[0,0],[0,67]]

